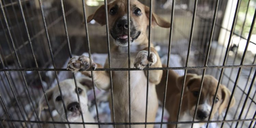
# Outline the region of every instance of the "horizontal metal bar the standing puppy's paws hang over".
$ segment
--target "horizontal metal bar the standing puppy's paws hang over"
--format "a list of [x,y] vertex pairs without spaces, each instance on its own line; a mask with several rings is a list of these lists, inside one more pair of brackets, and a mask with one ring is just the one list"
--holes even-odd
[[[256,67],[254,65],[229,65],[229,66],[198,66],[198,67],[163,67],[163,68],[144,68],[143,70],[191,70],[191,69],[219,69],[219,68],[251,68]],[[99,68],[95,70],[87,70],[87,71],[138,71],[140,69],[137,68]],[[35,68],[27,68],[27,69],[0,69],[2,71],[69,71],[67,69],[35,69]]]

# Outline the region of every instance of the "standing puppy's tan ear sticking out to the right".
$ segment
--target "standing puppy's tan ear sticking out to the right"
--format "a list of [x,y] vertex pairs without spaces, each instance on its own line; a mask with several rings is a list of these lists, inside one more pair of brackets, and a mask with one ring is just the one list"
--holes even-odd
[[[146,13],[147,18],[149,19],[149,17],[150,17],[150,8],[148,6],[145,6],[145,13]],[[170,28],[171,27],[171,23],[162,19],[161,17],[159,17],[158,15],[156,15],[153,12],[152,12],[152,25],[153,25],[153,27],[155,25],[158,25],[158,26],[163,27],[163,28]]]

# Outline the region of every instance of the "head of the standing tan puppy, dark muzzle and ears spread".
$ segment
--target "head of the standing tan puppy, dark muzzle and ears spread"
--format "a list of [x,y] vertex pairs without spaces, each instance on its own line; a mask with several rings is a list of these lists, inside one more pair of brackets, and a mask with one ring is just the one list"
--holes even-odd
[[[130,0],[130,42],[142,40],[146,36],[149,25],[150,8],[138,0]],[[87,22],[96,20],[101,25],[106,24],[105,6],[102,5],[87,19]],[[128,45],[127,1],[115,0],[108,4],[108,23],[112,38],[118,46]],[[171,24],[152,13],[152,25],[169,28]],[[137,42],[141,43],[141,42]]]

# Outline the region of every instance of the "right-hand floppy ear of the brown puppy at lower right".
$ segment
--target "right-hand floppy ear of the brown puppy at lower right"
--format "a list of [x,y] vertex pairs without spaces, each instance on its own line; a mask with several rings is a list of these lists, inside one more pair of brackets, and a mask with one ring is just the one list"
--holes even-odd
[[[229,102],[230,95],[231,95],[229,89],[226,86],[220,85],[220,87],[221,87],[221,92],[222,92],[222,103],[219,106],[219,114],[221,114],[222,111],[228,107],[228,102]],[[234,106],[235,102],[236,102],[235,99],[232,98],[231,103],[230,103],[230,108],[232,106]]]

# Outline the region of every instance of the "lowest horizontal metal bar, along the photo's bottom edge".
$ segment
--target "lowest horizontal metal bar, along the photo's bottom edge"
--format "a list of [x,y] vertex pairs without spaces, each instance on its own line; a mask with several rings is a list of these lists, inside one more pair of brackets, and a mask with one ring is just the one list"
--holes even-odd
[[33,121],[33,120],[14,120],[14,119],[0,119],[0,122],[26,122],[26,123],[42,123],[42,124],[88,124],[88,125],[145,125],[145,124],[191,124],[191,123],[222,123],[222,122],[244,122],[255,121],[252,119],[231,119],[231,120],[210,120],[210,121],[189,121],[189,122],[133,122],[133,123],[82,123],[82,122],[49,122],[49,121]]

